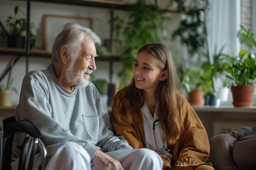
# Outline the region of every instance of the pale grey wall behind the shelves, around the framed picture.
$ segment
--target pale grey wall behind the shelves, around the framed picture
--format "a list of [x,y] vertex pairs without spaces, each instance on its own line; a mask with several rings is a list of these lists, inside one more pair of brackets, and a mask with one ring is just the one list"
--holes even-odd
[[[26,12],[26,1],[15,1],[15,0],[0,0],[0,20],[5,25],[7,16],[13,15],[14,7],[18,5],[23,11]],[[75,5],[64,5],[64,4],[55,4],[55,3],[43,3],[43,2],[31,2],[31,22],[34,22],[36,28],[43,33],[43,15],[44,14],[53,14],[53,15],[63,15],[63,16],[79,16],[79,17],[89,17],[93,19],[93,31],[96,32],[99,37],[104,40],[108,39],[110,35],[110,27],[108,21],[110,19],[110,10],[105,8],[94,8],[94,7],[85,7],[85,6],[75,6]],[[115,10],[115,15],[125,15],[126,13],[120,10]],[[179,22],[178,13],[167,13],[170,17],[170,20],[165,23],[167,26],[166,34],[171,36],[172,30],[177,26]],[[2,44],[1,44],[2,43]],[[173,50],[174,57],[176,60],[182,60],[184,56],[184,50],[182,47],[175,42],[171,42],[170,38],[165,42],[171,50]],[[0,46],[4,46],[6,43],[3,41],[0,42]],[[43,40],[36,43],[36,48],[42,49]],[[0,55],[0,74],[6,68],[6,65],[11,61],[12,58],[16,56],[10,55]],[[40,57],[29,57],[29,71],[35,69],[46,69],[49,65],[49,58],[40,58]],[[15,64],[13,67],[12,76],[14,77],[13,86],[18,90],[18,94],[13,96],[13,104],[17,105],[19,101],[19,92],[21,88],[22,79],[25,75],[25,57]],[[104,78],[109,81],[109,63],[96,60],[97,70],[94,71],[94,78]],[[120,62],[114,62],[113,71],[114,75],[112,77],[113,82],[119,82],[117,73],[121,70],[122,65]],[[7,76],[1,81],[1,84],[6,84]]]

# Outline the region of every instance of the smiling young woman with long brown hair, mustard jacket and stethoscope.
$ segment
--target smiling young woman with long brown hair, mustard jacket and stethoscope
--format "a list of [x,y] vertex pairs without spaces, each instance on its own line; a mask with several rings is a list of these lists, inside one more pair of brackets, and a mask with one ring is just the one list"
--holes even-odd
[[206,130],[183,96],[171,52],[161,43],[139,49],[133,80],[114,97],[111,124],[133,148],[155,150],[163,169],[213,170]]

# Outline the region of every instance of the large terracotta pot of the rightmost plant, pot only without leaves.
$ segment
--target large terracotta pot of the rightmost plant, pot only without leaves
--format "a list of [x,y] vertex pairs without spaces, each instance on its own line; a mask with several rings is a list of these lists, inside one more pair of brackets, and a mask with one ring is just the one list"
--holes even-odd
[[237,107],[251,107],[253,105],[254,86],[233,86],[233,105]]

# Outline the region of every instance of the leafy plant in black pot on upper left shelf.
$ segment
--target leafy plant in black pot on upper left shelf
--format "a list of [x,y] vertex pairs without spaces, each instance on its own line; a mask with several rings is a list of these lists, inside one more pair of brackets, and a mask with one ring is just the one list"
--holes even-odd
[[[18,18],[17,14],[20,12],[24,17]],[[33,27],[33,23],[32,27]],[[26,14],[19,6],[14,8],[14,16],[8,16],[6,20],[6,27],[9,28],[9,31],[3,26],[0,22],[0,37],[7,37],[7,46],[11,48],[23,48],[26,30],[27,30],[27,21]],[[30,47],[32,48],[35,45],[35,36],[30,33]]]

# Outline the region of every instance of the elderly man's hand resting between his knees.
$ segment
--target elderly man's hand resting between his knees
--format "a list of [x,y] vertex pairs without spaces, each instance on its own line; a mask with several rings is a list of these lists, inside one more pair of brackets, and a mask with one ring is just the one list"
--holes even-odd
[[100,170],[124,170],[118,160],[115,160],[101,150],[96,151],[93,156],[92,163]]

